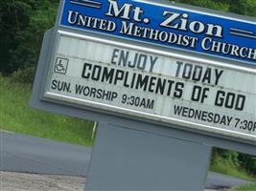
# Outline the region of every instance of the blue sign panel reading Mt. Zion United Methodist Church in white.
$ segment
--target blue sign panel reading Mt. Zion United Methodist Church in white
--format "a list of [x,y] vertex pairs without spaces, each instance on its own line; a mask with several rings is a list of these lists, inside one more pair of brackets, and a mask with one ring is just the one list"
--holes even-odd
[[256,22],[144,0],[64,0],[60,26],[256,66]]

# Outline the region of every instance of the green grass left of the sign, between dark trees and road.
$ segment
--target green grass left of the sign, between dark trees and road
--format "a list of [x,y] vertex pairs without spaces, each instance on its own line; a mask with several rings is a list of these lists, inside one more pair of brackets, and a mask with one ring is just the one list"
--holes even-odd
[[92,145],[93,122],[30,108],[31,85],[0,76],[0,129],[38,138]]

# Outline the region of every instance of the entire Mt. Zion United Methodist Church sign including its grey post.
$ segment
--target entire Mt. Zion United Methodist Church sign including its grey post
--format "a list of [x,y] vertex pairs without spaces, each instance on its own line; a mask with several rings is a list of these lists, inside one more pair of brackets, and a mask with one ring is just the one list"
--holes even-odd
[[32,106],[99,121],[86,190],[202,190],[213,146],[256,155],[255,42],[252,18],[64,0]]

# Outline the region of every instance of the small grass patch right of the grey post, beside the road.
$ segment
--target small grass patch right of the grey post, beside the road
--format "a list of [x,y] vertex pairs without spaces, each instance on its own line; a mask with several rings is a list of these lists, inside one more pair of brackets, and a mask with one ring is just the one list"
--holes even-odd
[[255,180],[253,175],[249,175],[244,169],[237,167],[229,160],[222,159],[220,156],[214,156],[210,170],[243,180]]

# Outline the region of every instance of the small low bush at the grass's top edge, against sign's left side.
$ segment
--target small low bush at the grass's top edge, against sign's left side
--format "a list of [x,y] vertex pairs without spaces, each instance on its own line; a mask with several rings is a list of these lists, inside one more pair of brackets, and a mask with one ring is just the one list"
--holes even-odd
[[34,82],[35,66],[26,68],[24,70],[17,70],[12,73],[12,82],[30,83]]

